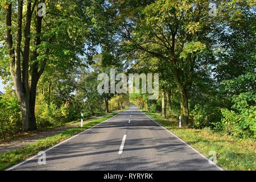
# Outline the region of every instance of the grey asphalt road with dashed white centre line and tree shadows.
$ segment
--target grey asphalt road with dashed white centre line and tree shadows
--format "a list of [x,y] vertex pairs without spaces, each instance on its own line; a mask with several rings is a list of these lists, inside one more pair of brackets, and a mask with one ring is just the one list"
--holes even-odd
[[[220,170],[138,109],[46,150],[10,170]],[[40,160],[39,160],[40,161]]]

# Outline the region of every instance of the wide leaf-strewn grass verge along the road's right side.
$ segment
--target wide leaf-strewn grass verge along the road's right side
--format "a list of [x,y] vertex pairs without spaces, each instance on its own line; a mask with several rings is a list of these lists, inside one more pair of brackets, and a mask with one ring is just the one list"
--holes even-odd
[[236,139],[210,130],[179,128],[175,119],[162,119],[158,113],[143,111],[148,117],[170,130],[185,142],[210,157],[216,151],[217,163],[227,170],[256,170],[256,142],[254,139]]

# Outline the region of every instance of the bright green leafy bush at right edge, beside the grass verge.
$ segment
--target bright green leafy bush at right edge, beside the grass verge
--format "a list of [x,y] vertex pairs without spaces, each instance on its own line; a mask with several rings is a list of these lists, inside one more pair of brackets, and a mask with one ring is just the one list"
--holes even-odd
[[232,107],[222,109],[223,118],[216,129],[234,137],[256,138],[256,74],[246,73],[234,80],[224,81]]

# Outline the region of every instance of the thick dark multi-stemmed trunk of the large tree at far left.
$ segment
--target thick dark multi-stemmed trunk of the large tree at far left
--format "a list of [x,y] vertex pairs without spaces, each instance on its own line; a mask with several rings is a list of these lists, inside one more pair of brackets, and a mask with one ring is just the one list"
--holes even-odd
[[[12,4],[7,4],[6,11],[6,46],[9,49],[10,57],[10,73],[13,79],[14,88],[18,100],[20,102],[20,108],[22,111],[22,121],[23,121],[23,130],[35,130],[36,121],[35,121],[35,98],[36,98],[36,84],[38,83],[39,77],[42,75],[45,67],[46,61],[42,64],[40,71],[38,72],[38,53],[36,49],[34,55],[32,56],[32,61],[35,63],[30,69],[28,64],[30,61],[30,29],[31,29],[31,18],[32,13],[35,10],[37,3],[34,2],[34,5],[31,6],[31,1],[27,2],[26,7],[26,24],[24,26],[24,34],[22,34],[22,20],[23,20],[23,0],[18,1],[17,19],[16,19],[16,36],[11,34],[12,26]],[[36,33],[38,34],[35,38],[35,45],[40,44],[40,33],[42,27],[42,18],[37,16],[36,19]],[[24,50],[22,52],[22,36],[24,35]],[[13,37],[16,39],[15,46],[13,42]],[[23,53],[23,54],[22,54]],[[23,59],[21,59],[21,54]],[[22,61],[21,61],[22,60]],[[31,78],[29,77],[29,72],[32,71]]]

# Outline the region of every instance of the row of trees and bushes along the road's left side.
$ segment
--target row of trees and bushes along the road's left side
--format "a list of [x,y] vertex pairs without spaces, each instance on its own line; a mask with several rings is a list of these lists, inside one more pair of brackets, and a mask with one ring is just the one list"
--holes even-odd
[[[1,97],[3,133],[71,121],[81,111],[88,116],[109,111],[113,96],[97,93],[97,74],[118,67],[105,51],[111,32],[104,30],[110,27],[106,19],[113,14],[107,7],[101,0],[0,1],[0,74],[10,83]],[[93,56],[99,44],[100,59]]]

